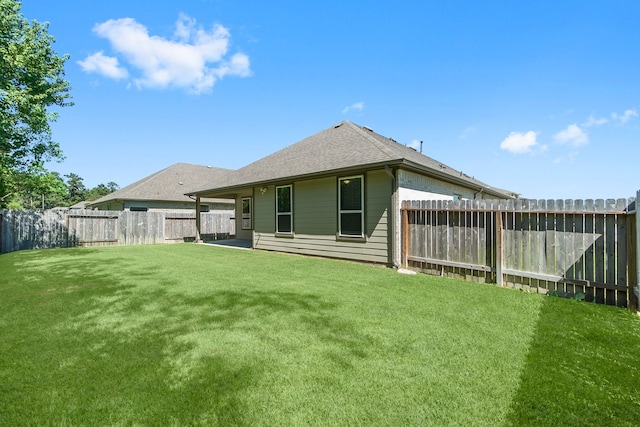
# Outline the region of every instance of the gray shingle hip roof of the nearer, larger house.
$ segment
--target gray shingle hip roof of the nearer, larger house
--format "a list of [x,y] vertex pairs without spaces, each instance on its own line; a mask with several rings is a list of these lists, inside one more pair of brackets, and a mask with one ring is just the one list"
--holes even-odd
[[[483,190],[501,198],[515,194],[493,188],[413,148],[379,135],[373,130],[343,121],[276,153],[251,163],[210,186],[189,194],[223,194],[240,187],[341,173],[371,167],[402,166],[443,181]],[[213,184],[213,186],[211,186]]]

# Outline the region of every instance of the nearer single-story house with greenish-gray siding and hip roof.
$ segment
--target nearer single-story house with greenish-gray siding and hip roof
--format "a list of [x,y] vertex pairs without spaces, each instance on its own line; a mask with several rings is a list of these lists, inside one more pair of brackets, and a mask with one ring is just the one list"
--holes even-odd
[[236,201],[254,249],[398,265],[400,204],[514,198],[413,148],[343,121],[190,195]]

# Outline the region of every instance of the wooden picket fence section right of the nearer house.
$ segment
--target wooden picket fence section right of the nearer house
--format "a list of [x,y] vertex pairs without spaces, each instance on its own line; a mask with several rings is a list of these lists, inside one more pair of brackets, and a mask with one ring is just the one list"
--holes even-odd
[[404,201],[402,259],[430,274],[637,310],[635,199]]

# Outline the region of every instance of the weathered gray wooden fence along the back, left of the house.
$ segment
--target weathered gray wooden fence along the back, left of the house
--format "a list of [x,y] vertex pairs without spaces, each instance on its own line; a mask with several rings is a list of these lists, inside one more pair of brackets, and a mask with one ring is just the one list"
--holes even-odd
[[[235,235],[233,213],[201,213],[203,240]],[[195,212],[1,210],[0,252],[194,240]]]

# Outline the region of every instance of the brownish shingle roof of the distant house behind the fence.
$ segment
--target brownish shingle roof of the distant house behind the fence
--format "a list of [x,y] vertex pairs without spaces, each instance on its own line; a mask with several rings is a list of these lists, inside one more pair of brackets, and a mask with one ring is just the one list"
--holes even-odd
[[[89,203],[89,206],[125,200],[195,202],[185,193],[195,188],[202,188],[204,185],[211,185],[230,172],[232,172],[230,169],[176,163],[120,190],[94,200]],[[208,201],[229,203],[229,200],[226,199]]]

